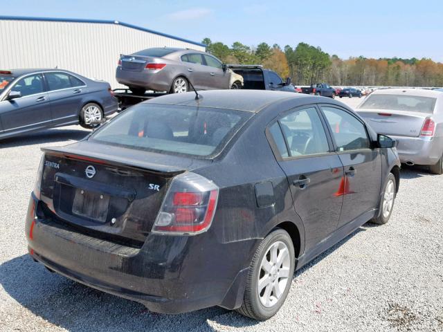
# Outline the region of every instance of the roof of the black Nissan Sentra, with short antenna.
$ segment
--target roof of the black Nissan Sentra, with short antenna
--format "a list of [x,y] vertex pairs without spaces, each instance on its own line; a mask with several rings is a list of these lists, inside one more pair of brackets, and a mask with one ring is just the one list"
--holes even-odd
[[195,92],[177,93],[153,98],[144,103],[235,109],[257,113],[274,102],[291,98],[312,98],[311,95],[293,92],[237,89],[199,91],[199,95],[201,95],[201,99],[195,100]]

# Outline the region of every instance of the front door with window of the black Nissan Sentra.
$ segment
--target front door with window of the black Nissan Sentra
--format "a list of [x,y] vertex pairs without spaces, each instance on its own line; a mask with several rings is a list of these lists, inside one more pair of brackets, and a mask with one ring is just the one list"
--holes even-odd
[[378,206],[381,186],[379,148],[371,147],[364,122],[338,106],[321,106],[334,147],[345,167],[344,196],[338,228]]

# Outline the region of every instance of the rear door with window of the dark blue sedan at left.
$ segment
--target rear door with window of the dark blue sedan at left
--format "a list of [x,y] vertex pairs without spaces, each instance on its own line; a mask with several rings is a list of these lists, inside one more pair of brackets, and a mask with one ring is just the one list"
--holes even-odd
[[69,73],[51,71],[43,74],[48,86],[53,124],[78,121],[87,85]]

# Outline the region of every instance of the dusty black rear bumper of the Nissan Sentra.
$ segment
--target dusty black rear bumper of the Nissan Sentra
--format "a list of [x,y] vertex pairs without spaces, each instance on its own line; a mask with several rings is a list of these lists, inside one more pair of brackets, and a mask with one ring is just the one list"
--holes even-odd
[[38,204],[32,196],[26,219],[28,250],[61,275],[159,313],[216,305],[233,309],[242,303],[248,262],[237,252],[250,250],[238,243],[215,243],[208,232],[197,237],[150,234],[142,248],[132,248],[89,237],[52,219],[34,219]]

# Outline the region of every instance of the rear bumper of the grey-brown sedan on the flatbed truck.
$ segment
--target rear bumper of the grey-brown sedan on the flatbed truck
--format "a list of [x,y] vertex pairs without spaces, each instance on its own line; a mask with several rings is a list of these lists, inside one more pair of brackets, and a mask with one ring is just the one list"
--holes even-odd
[[123,71],[120,67],[116,70],[116,80],[126,86],[134,86],[152,91],[169,91],[172,77],[168,71]]

